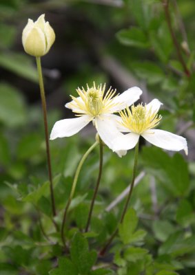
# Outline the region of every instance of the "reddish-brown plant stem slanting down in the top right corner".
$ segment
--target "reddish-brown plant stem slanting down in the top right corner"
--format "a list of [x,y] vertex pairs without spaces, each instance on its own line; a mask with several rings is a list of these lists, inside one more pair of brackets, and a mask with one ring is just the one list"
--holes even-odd
[[176,48],[176,53],[177,53],[177,56],[178,56],[178,60],[181,63],[186,76],[189,77],[190,76],[189,69],[187,69],[187,66],[185,65],[185,61],[184,61],[183,56],[181,54],[181,47],[180,47],[180,45],[179,45],[179,43],[176,39],[176,35],[175,35],[174,29],[172,27],[172,20],[171,20],[171,17],[170,17],[170,10],[169,10],[170,0],[162,0],[162,3],[163,3],[163,6],[164,6],[164,10],[165,10],[165,17],[166,17],[166,20],[167,20],[167,25],[168,25],[168,28],[170,29],[170,34],[172,36],[172,41],[173,41],[174,46]]

